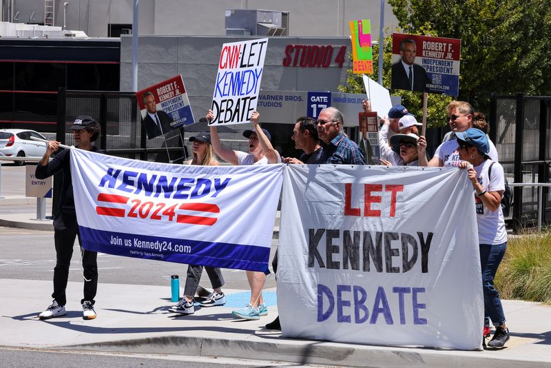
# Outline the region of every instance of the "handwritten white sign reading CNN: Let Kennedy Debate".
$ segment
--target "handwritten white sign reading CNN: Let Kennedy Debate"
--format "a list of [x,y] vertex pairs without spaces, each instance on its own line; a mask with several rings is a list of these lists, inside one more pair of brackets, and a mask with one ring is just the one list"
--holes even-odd
[[209,125],[249,123],[256,110],[268,39],[224,43],[212,96]]

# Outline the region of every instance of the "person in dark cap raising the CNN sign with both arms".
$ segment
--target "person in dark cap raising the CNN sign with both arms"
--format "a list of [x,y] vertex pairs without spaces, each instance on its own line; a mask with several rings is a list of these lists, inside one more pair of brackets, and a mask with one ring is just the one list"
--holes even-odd
[[[212,110],[207,114],[207,121],[214,119]],[[220,159],[231,163],[231,165],[266,165],[269,163],[281,163],[281,156],[271,145],[271,135],[268,130],[261,128],[258,120],[260,114],[253,111],[251,122],[254,130],[245,130],[243,136],[249,139],[249,153],[231,150],[220,144],[220,137],[216,126],[211,126],[211,143],[214,152]],[[264,272],[247,271],[247,280],[251,287],[251,299],[244,308],[232,311],[233,316],[247,320],[258,320],[260,316],[268,314],[267,306],[262,299],[262,288],[266,281]]]

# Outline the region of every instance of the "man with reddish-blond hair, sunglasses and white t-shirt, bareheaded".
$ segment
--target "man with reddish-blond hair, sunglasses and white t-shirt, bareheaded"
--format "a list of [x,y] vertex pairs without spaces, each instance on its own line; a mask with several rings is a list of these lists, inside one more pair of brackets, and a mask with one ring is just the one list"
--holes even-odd
[[[470,103],[465,101],[452,101],[446,108],[448,110],[448,119],[450,121],[450,127],[452,132],[460,133],[465,132],[472,127],[472,118],[475,116],[475,110]],[[498,161],[497,150],[494,143],[488,139],[490,145],[490,152],[488,156],[492,161]],[[433,159],[428,161],[428,166],[458,166],[461,163],[459,158],[459,147],[457,146],[457,139],[446,141],[438,146],[435,151]],[[419,163],[423,165],[423,163]]]

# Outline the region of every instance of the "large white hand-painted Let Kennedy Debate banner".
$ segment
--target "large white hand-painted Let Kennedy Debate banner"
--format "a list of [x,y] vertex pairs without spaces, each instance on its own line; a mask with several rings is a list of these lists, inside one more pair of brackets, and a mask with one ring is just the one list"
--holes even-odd
[[284,169],[277,278],[284,337],[481,347],[484,298],[466,170]]

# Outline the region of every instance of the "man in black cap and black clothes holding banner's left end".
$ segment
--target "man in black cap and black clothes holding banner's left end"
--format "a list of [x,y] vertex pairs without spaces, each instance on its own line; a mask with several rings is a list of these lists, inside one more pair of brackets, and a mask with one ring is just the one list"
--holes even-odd
[[[98,139],[100,133],[99,124],[91,116],[78,116],[71,127],[76,147],[80,150],[97,152],[98,149],[92,145],[92,142]],[[45,309],[39,318],[46,320],[65,315],[65,289],[67,288],[67,278],[69,277],[69,265],[73,254],[73,245],[76,236],[79,237],[81,245],[83,278],[84,278],[84,298],[81,300],[83,309],[83,319],[91,320],[96,318],[94,311],[94,297],[98,287],[98,265],[97,252],[90,252],[82,249],[81,237],[79,235],[79,224],[76,221],[76,212],[74,209],[73,187],[70,170],[71,150],[60,150],[58,154],[50,161],[52,153],[59,149],[61,142],[48,141],[48,147],[37,165],[35,175],[39,179],[48,178],[57,172],[63,173],[63,184],[61,185],[61,200],[59,201],[59,211],[54,217],[54,242],[56,247],[56,267],[54,268],[54,301]]]

